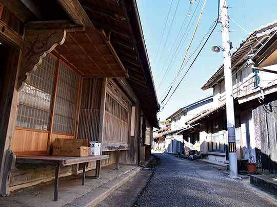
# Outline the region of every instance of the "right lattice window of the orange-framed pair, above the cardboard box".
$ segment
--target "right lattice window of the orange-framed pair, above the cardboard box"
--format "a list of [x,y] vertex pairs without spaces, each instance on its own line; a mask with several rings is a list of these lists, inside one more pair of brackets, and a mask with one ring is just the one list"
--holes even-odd
[[61,63],[58,74],[53,132],[74,133],[79,76]]

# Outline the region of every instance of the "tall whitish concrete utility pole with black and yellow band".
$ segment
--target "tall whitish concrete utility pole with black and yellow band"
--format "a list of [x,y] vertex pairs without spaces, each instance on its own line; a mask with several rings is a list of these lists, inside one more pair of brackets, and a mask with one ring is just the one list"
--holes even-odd
[[230,56],[230,41],[229,41],[229,20],[227,14],[227,0],[220,0],[221,8],[221,28],[222,28],[222,45],[223,45],[223,62],[224,62],[224,80],[226,93],[226,118],[228,130],[228,152],[230,177],[238,177],[238,163],[236,160],[235,148],[235,119],[234,119],[234,102],[233,102],[233,84],[232,84],[232,67]]

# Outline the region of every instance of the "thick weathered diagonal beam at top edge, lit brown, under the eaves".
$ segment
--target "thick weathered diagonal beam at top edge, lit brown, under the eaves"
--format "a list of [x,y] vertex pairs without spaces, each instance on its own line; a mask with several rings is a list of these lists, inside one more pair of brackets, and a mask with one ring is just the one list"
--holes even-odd
[[57,2],[76,25],[83,25],[87,29],[95,29],[90,18],[78,0],[57,0]]

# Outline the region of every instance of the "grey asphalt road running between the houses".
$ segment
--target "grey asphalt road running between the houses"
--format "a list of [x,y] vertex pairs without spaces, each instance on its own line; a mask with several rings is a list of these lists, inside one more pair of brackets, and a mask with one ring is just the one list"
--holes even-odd
[[160,165],[138,197],[137,206],[277,206],[209,164],[155,155]]

